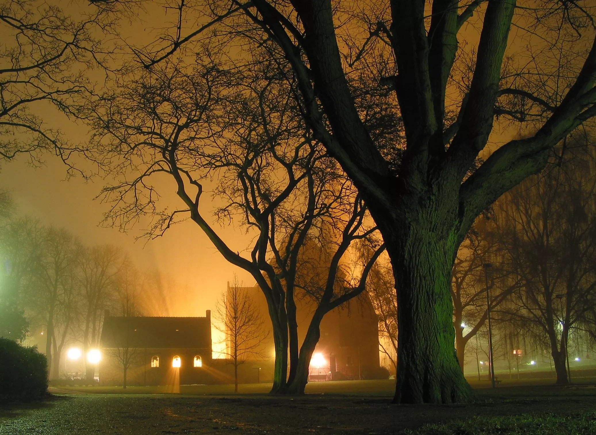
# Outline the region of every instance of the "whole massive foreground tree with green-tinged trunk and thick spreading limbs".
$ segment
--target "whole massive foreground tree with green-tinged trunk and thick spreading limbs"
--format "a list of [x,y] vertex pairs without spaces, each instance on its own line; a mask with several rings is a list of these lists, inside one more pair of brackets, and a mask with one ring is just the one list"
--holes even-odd
[[[177,23],[135,55],[152,69],[212,39],[238,48],[230,54],[236,66],[263,56],[277,62],[297,90],[305,128],[350,177],[386,243],[400,325],[395,401],[469,400],[453,349],[455,255],[476,217],[541,171],[552,147],[596,114],[592,6],[415,0],[360,7],[180,2]],[[349,25],[340,26],[344,20]],[[477,44],[458,44],[463,32]],[[362,76],[373,85],[361,86]],[[401,115],[381,125],[403,127],[405,141],[386,134],[395,128],[367,122],[362,104],[371,101]],[[496,115],[533,133],[477,165]]]

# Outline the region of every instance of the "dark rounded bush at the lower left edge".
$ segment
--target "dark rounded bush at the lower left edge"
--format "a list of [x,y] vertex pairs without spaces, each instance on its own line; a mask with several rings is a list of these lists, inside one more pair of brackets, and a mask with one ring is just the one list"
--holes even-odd
[[36,347],[0,337],[0,402],[43,399],[48,390],[48,361]]

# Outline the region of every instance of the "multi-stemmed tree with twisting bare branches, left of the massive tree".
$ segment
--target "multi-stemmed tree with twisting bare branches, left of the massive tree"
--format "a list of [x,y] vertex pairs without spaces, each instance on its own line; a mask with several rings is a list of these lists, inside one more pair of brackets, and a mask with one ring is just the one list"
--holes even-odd
[[[104,189],[105,199],[113,202],[107,219],[126,227],[150,215],[149,234],[158,235],[179,215],[190,215],[226,260],[252,274],[265,295],[276,349],[272,391],[302,393],[322,317],[364,291],[382,247],[363,265],[360,283],[336,286],[342,256],[375,231],[367,225],[362,199],[303,128],[291,88],[275,64],[233,72],[219,66],[209,47],[204,53],[191,66],[167,61],[131,82],[120,78],[82,107],[79,116],[94,128],[93,155],[119,182]],[[157,205],[149,181],[156,174],[173,178],[182,208]],[[200,211],[205,180],[216,182],[215,195],[224,200],[216,217],[236,220],[254,233],[249,258],[229,248]],[[325,225],[334,228],[336,238],[299,348],[294,292],[300,252]]]

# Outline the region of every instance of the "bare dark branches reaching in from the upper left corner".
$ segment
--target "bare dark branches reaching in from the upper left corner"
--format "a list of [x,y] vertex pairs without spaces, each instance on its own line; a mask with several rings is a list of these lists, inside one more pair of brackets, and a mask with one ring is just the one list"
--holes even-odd
[[103,57],[100,32],[110,27],[108,11],[81,6],[75,18],[43,0],[0,3],[2,159],[25,153],[41,162],[41,152],[51,150],[66,161],[76,150],[39,109],[51,103],[67,112],[73,97],[90,87],[87,70]]

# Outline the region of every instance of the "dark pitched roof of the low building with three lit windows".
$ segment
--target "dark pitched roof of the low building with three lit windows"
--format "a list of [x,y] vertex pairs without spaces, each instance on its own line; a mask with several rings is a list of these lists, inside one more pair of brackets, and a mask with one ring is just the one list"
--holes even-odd
[[112,317],[104,319],[103,348],[211,348],[207,317]]

